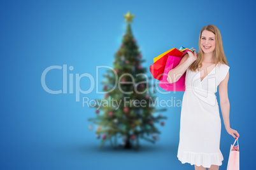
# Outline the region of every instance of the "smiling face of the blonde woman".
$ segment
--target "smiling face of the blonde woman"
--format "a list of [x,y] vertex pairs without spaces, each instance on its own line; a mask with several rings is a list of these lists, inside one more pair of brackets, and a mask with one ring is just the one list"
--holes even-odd
[[208,30],[203,30],[200,44],[204,53],[213,53],[215,50],[215,34]]

